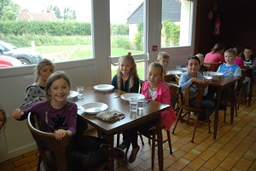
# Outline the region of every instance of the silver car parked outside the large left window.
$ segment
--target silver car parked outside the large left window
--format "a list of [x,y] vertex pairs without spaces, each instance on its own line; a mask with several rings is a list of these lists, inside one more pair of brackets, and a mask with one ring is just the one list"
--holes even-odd
[[22,65],[37,64],[38,61],[42,60],[42,55],[38,51],[29,50],[26,48],[18,48],[3,41],[0,41],[0,51],[2,51],[3,54],[20,60]]

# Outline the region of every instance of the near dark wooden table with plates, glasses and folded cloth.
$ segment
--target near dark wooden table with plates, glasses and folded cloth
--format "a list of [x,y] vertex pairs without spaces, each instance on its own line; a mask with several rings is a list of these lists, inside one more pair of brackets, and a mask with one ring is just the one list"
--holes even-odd
[[157,136],[158,136],[158,162],[159,169],[163,170],[163,146],[162,146],[162,126],[161,126],[161,111],[165,111],[170,108],[170,105],[161,104],[157,101],[151,100],[148,105],[144,106],[142,111],[136,113],[130,112],[129,102],[120,98],[122,94],[126,92],[114,89],[110,92],[100,92],[93,88],[93,86],[84,86],[84,98],[76,100],[75,103],[79,109],[82,105],[92,102],[102,102],[108,105],[107,110],[114,109],[125,114],[125,118],[115,122],[102,121],[101,119],[94,117],[95,115],[85,113],[84,111],[78,110],[80,116],[84,118],[86,123],[101,131],[107,135],[108,144],[108,170],[114,170],[113,162],[113,145],[114,145],[114,134],[119,134],[130,128],[137,127],[149,120],[157,119]]

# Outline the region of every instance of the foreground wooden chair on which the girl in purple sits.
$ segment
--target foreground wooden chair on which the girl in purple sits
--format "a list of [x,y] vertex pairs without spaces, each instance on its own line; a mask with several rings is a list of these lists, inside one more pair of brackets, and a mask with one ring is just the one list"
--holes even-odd
[[[78,116],[78,123],[82,124],[80,124],[80,128],[78,127],[78,134],[83,134],[83,128],[87,128],[87,123],[79,118],[80,117]],[[63,140],[56,140],[55,134],[39,130],[38,125],[39,124],[37,117],[30,113],[27,117],[27,126],[32,133],[32,137],[38,145],[38,151],[40,153],[37,170],[41,170],[40,163],[43,161],[44,169],[46,171],[73,171],[72,168],[69,168],[67,166],[66,160],[66,147],[69,144],[71,137],[65,136]],[[54,151],[55,157],[52,157],[50,152],[44,148],[45,145],[51,146],[52,151]],[[105,168],[106,163],[107,162],[102,163],[95,168],[88,168],[86,169],[86,171],[100,171]]]

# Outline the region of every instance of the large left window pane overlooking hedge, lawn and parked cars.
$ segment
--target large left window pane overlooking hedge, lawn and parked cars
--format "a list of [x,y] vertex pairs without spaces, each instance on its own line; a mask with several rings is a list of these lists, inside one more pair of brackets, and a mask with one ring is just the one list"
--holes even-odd
[[[3,3],[1,40],[25,48],[20,58],[27,65],[37,63],[34,52],[28,50],[37,51],[42,58],[55,62],[91,58],[90,0],[81,3],[81,0],[11,0]],[[26,54],[32,59],[26,60]]]

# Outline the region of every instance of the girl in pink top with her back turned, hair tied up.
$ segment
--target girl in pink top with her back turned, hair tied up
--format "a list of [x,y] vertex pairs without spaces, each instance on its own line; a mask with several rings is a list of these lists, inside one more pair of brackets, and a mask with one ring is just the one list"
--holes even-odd
[[[211,52],[206,54],[204,62],[209,62],[209,63],[214,63],[214,62],[219,62],[219,63],[224,63],[224,49],[225,46],[223,43],[216,43],[214,47],[212,48]],[[210,71],[215,71],[216,68],[214,66],[211,66]]]

